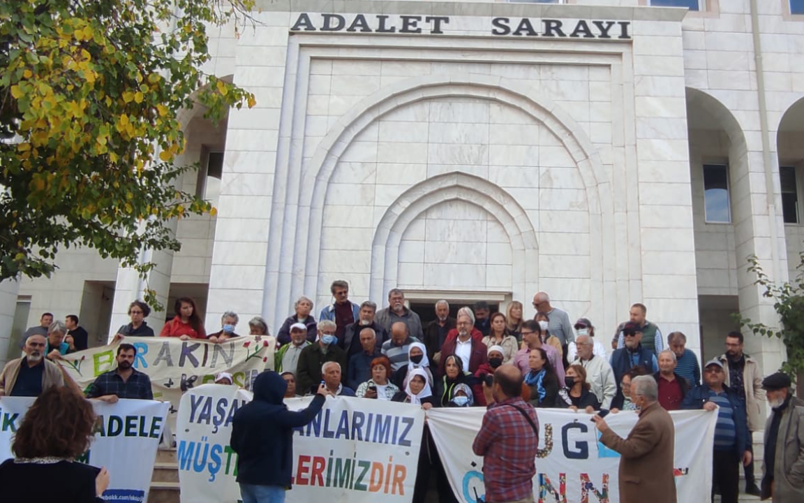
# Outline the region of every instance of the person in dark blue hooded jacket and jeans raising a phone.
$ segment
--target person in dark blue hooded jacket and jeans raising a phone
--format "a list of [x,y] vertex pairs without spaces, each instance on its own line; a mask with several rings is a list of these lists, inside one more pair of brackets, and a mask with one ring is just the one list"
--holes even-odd
[[324,406],[330,391],[318,393],[304,410],[288,410],[282,400],[287,383],[273,370],[254,380],[254,399],[232,419],[232,450],[243,503],[283,503],[293,474],[293,428],[305,426]]

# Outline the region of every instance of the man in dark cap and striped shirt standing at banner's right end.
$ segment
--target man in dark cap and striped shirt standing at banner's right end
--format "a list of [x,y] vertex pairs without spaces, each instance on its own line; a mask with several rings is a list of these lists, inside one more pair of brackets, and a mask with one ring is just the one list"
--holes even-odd
[[740,491],[739,465],[751,463],[748,421],[740,398],[724,385],[726,373],[720,360],[704,366],[704,384],[690,390],[682,409],[717,410],[712,483],[720,489],[721,503],[737,503]]

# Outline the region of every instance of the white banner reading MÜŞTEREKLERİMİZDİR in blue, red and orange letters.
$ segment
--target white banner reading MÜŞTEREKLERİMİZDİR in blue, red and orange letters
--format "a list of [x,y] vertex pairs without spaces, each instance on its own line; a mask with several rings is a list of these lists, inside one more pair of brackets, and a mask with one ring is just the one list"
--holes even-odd
[[[186,503],[240,500],[232,416],[249,392],[205,385],[184,394],[178,410],[178,480]],[[312,398],[285,400],[300,410]],[[312,423],[293,435],[293,490],[287,501],[408,503],[413,497],[424,411],[404,403],[330,397]]]

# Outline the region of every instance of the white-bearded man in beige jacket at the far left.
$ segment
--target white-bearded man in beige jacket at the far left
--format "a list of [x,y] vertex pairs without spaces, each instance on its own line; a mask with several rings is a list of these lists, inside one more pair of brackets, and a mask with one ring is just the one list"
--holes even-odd
[[26,356],[9,361],[0,373],[0,397],[38,397],[51,386],[64,386],[64,371],[44,357],[45,344],[43,335],[27,338]]

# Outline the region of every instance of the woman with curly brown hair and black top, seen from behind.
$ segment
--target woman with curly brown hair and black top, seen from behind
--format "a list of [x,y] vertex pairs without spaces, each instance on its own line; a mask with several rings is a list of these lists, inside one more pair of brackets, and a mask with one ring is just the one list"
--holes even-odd
[[0,464],[3,501],[102,502],[109,472],[76,462],[89,447],[95,418],[73,390],[53,386],[39,395],[14,435],[16,458]]

